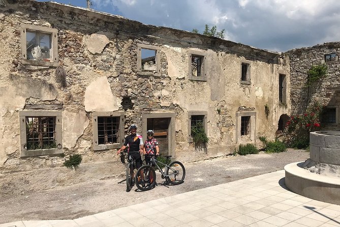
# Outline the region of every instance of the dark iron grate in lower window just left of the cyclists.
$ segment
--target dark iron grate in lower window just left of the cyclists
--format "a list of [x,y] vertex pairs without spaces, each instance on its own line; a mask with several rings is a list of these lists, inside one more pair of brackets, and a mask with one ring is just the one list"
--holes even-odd
[[98,144],[116,144],[119,135],[119,117],[98,117]]

